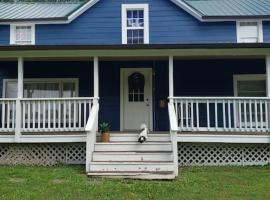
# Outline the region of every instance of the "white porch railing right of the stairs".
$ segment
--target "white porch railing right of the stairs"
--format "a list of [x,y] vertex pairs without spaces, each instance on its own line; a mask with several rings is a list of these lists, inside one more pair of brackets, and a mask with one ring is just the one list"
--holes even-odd
[[173,97],[171,100],[178,131],[269,131],[270,98],[267,97]]

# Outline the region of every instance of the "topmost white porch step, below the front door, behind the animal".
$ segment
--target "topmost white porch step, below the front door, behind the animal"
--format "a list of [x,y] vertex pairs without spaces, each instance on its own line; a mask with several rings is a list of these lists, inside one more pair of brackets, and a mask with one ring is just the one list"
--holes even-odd
[[[137,142],[139,133],[112,133],[110,134],[111,142]],[[100,140],[98,140],[100,141]],[[170,142],[169,134],[149,134],[148,142]]]

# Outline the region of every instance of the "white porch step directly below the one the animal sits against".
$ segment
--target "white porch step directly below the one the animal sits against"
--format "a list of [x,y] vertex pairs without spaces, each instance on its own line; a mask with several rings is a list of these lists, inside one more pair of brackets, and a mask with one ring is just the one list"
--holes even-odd
[[95,152],[127,152],[127,151],[172,151],[172,144],[170,142],[151,142],[140,144],[138,142],[116,142],[116,143],[96,143]]

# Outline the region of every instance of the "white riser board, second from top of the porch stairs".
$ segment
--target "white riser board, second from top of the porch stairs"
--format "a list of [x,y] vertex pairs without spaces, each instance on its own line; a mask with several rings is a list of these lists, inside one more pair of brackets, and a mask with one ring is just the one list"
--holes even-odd
[[96,144],[95,151],[172,151],[172,145]]

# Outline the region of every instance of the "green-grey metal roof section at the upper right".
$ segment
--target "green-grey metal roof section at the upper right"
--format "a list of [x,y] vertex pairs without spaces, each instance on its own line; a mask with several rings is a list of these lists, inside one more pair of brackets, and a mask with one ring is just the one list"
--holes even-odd
[[172,0],[196,18],[235,20],[270,19],[270,0]]

